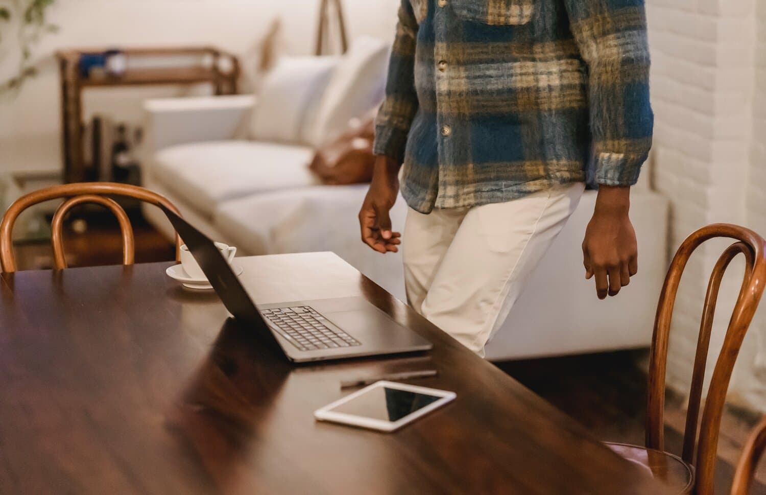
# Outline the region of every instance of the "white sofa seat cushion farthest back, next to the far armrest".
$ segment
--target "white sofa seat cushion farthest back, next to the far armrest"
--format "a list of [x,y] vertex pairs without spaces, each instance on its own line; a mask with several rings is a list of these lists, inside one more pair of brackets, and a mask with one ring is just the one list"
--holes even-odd
[[213,141],[163,149],[155,179],[212,217],[221,202],[274,189],[319,184],[309,171],[313,150],[254,141]]

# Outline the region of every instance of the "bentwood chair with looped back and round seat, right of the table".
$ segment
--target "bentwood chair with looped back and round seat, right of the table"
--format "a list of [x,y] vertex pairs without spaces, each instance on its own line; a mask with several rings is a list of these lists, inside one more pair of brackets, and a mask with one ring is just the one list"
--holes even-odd
[[[686,412],[683,454],[677,457],[664,451],[663,438],[665,371],[670,321],[686,262],[697,247],[712,238],[732,238],[736,242],[726,248],[719,257],[705,294],[689,393],[689,409]],[[657,307],[650,354],[646,447],[624,444],[610,444],[610,447],[628,460],[652,470],[655,477],[664,479],[667,484],[677,487],[678,493],[710,495],[713,491],[715,457],[729,379],[732,377],[732,369],[742,339],[750,326],[766,284],[766,257],[764,257],[766,249],[764,248],[766,248],[764,239],[746,228],[726,224],[709,225],[690,235],[681,244],[665,278]],[[728,323],[721,352],[715,363],[705,399],[705,408],[702,411],[699,446],[696,447],[702,382],[705,377],[705,362],[708,357],[715,303],[723,274],[731,261],[740,253],[745,256],[745,277]]]

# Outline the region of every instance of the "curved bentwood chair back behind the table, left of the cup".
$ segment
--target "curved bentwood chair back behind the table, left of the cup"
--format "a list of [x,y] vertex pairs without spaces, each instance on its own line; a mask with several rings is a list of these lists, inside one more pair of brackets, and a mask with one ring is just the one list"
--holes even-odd
[[[133,240],[133,228],[130,225],[130,220],[128,219],[128,215],[126,215],[125,210],[123,210],[116,201],[106,197],[106,195],[136,198],[152,205],[163,205],[165,208],[178,213],[178,208],[175,208],[175,205],[167,199],[156,192],[149,191],[149,189],[141,188],[136,185],[114,184],[111,182],[83,182],[55,185],[50,188],[30,192],[28,195],[18,198],[18,200],[8,208],[8,211],[5,211],[2,223],[0,223],[0,264],[2,264],[2,271],[5,273],[13,273],[17,270],[16,260],[13,254],[12,232],[13,225],[15,224],[18,215],[21,214],[21,211],[24,211],[32,205],[60,198],[67,199],[58,207],[51,223],[51,244],[53,244],[54,267],[59,270],[67,267],[67,261],[64,258],[62,225],[64,224],[64,217],[67,215],[67,212],[74,206],[82,205],[83,203],[97,203],[98,205],[103,205],[106,208],[109,208],[110,211],[113,212],[117,217],[117,221],[119,221],[119,228],[123,234],[123,264],[133,264],[136,246]],[[178,234],[176,234],[176,261],[178,261],[180,255],[180,245],[181,239],[178,237]]]

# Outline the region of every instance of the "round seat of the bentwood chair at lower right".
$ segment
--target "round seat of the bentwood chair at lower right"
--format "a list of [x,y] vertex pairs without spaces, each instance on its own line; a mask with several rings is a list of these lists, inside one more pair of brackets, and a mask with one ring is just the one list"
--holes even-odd
[[674,493],[679,495],[692,493],[694,469],[680,457],[638,445],[613,444],[611,442],[605,442],[605,444],[620,457],[640,465],[649,471],[654,479],[660,480],[668,487],[676,490]]

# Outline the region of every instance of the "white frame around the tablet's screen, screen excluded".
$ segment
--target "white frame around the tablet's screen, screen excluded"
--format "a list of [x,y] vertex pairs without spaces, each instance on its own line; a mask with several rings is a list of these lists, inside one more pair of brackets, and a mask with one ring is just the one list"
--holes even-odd
[[[394,388],[394,390],[405,390],[408,392],[414,392],[416,394],[432,395],[434,397],[440,398],[436,402],[432,402],[426,407],[418,409],[417,411],[410,415],[404,416],[404,418],[401,418],[398,421],[382,421],[380,419],[366,418],[365,416],[348,415],[342,412],[332,411],[332,409],[337,408],[339,405],[352,401],[359,395],[371,391],[373,388],[381,387]],[[455,392],[447,392],[446,390],[418,387],[417,385],[408,385],[406,383],[381,381],[375,382],[368,387],[362,388],[362,390],[358,390],[350,395],[347,395],[344,398],[337,400],[336,402],[332,402],[330,405],[326,405],[323,408],[317,409],[314,411],[314,418],[318,419],[319,421],[332,421],[333,423],[342,423],[343,425],[352,425],[361,428],[369,428],[371,430],[391,432],[396,431],[404,425],[415,421],[417,418],[421,418],[422,416],[427,415],[430,411],[434,411],[434,409],[440,408],[448,402],[453,401],[455,397],[457,397]]]

